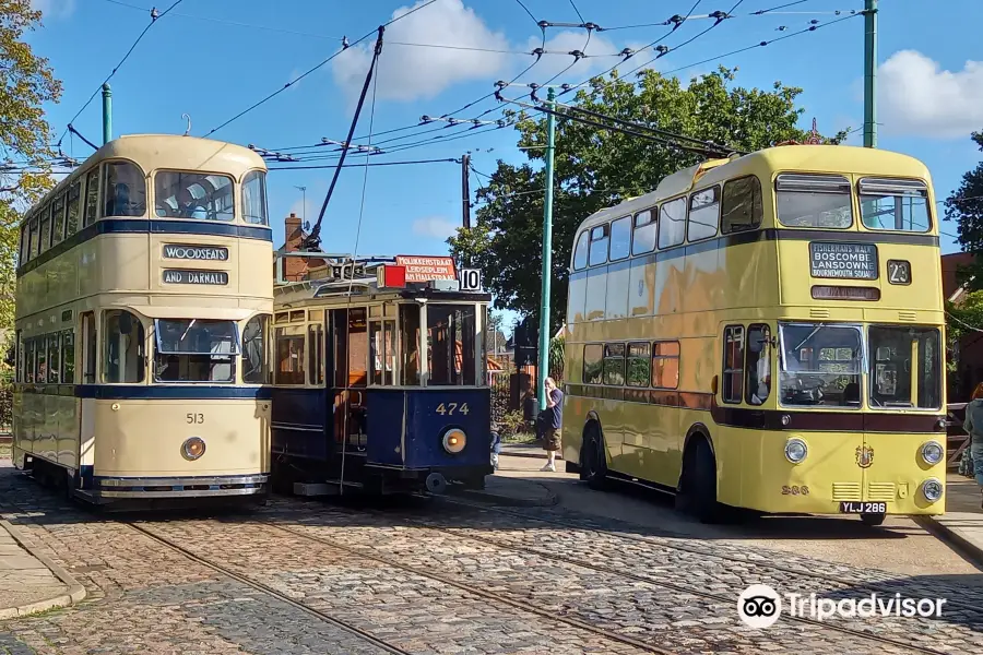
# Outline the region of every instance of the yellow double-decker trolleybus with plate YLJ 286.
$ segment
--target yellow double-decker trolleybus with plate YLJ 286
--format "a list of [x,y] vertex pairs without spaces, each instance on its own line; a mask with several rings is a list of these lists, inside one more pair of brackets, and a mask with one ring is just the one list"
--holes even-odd
[[577,233],[564,458],[703,520],[945,508],[944,309],[920,162],[782,145]]

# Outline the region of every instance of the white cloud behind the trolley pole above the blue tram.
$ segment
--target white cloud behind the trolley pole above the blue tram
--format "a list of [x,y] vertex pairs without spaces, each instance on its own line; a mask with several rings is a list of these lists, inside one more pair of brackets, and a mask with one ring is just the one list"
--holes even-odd
[[[418,0],[413,8],[424,1]],[[402,7],[392,16],[403,15],[411,9]],[[375,39],[370,39],[350,48],[332,61],[335,82],[351,95],[362,90],[374,43]],[[508,59],[514,57],[502,52],[401,46],[399,43],[510,49],[506,37],[492,32],[462,0],[438,0],[387,27],[379,58],[376,96],[379,99],[431,98],[452,84],[494,78],[507,66]]]

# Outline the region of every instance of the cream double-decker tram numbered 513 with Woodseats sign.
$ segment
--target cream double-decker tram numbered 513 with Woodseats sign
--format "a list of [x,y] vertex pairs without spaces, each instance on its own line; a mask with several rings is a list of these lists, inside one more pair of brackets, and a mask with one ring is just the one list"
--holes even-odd
[[265,497],[265,171],[228,143],[122,136],[26,214],[17,467],[95,503]]

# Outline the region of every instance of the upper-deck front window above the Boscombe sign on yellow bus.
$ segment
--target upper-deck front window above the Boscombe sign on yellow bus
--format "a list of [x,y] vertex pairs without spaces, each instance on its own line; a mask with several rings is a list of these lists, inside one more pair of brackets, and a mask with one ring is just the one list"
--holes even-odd
[[840,175],[782,174],[774,182],[779,222],[786,227],[853,225],[850,180]]

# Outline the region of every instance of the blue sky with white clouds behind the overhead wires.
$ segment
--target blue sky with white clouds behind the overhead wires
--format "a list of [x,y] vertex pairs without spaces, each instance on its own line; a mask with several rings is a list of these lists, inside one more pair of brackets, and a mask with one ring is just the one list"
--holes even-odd
[[[64,84],[61,103],[48,108],[48,120],[57,134],[147,24],[150,15],[144,10],[154,1],[163,11],[171,0],[33,0],[45,12],[45,19],[44,27],[29,36],[31,44],[50,59],[55,74]],[[686,14],[692,5],[692,0],[575,1],[585,21],[604,27],[659,23],[673,14]],[[695,15],[730,10],[735,1],[702,0]],[[580,22],[569,0],[523,2],[538,20]],[[665,71],[687,67],[802,29],[810,20],[836,20],[833,11],[845,13],[863,8],[862,0],[806,0],[772,14],[746,15],[783,3],[745,0],[734,11],[736,17],[670,52],[658,68]],[[924,160],[932,170],[937,194],[945,198],[960,176],[981,158],[969,132],[983,129],[983,49],[973,46],[980,43],[983,2],[949,0],[944,11],[932,10],[931,4],[925,0],[880,0],[878,145]],[[354,41],[392,17],[393,12],[410,5],[389,0],[183,0],[150,29],[112,79],[114,132],[182,133],[181,115],[189,114],[191,133],[204,135],[337,50],[342,36]],[[709,24],[708,20],[688,21],[664,43],[674,47]],[[780,26],[786,31],[777,31]],[[580,82],[616,61],[600,56],[638,47],[664,32],[665,27],[652,26],[595,33],[587,52],[599,57],[582,60],[556,83]],[[546,36],[547,50],[569,51],[583,47],[585,33],[550,27]],[[533,60],[529,55],[400,43],[528,52],[540,45],[540,28],[518,0],[438,0],[393,24],[387,31],[381,58],[374,131],[413,126],[422,115],[439,116],[457,109],[489,93],[496,80],[514,76]],[[212,136],[268,148],[313,144],[321,138],[343,140],[368,57],[358,47],[348,49]],[[638,55],[631,68],[649,59],[642,57]],[[570,61],[566,55],[544,56],[522,80],[545,82]],[[801,102],[806,108],[805,126],[813,117],[825,132],[862,124],[863,17],[720,63],[739,67],[741,85],[769,87],[781,80],[804,87]],[[687,79],[715,66],[716,62],[706,63],[677,74]],[[494,98],[488,98],[457,116],[473,118],[496,105]],[[493,111],[485,118],[497,115]],[[100,138],[98,98],[74,126],[90,140]],[[368,126],[366,110],[358,133],[365,134]],[[377,141],[405,136],[383,145],[392,147],[434,135],[413,138],[414,132],[396,132]],[[860,142],[857,131],[851,143]],[[91,152],[78,139],[72,142],[66,138],[63,147],[80,158]],[[472,151],[474,167],[486,172],[495,168],[497,158],[522,159],[510,129],[486,129],[465,139],[430,141],[376,159],[459,157],[466,151]],[[364,155],[354,153],[348,158],[350,163],[362,160]],[[363,174],[364,169],[351,168],[341,176],[322,227],[325,250],[352,252],[355,248]],[[301,192],[295,187],[307,187],[306,213],[312,221],[331,175],[331,169],[271,172],[270,205],[277,242],[283,234],[283,217],[291,211],[304,212]],[[448,163],[370,168],[358,252],[445,252],[443,239],[461,219],[460,178],[460,167]],[[476,182],[473,178],[472,186]],[[945,231],[955,233],[951,224],[941,225]],[[956,250],[951,239],[945,237],[944,248],[947,252]]]

